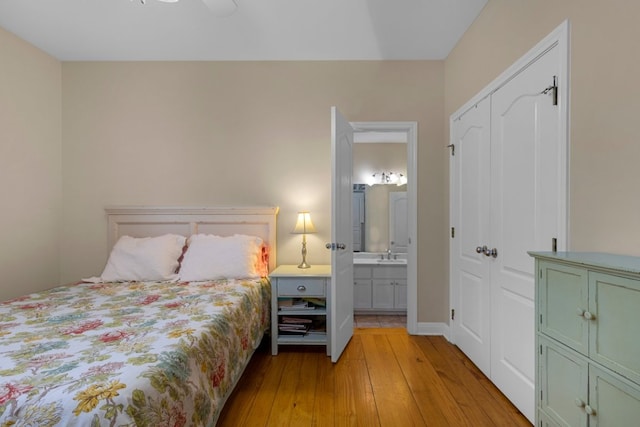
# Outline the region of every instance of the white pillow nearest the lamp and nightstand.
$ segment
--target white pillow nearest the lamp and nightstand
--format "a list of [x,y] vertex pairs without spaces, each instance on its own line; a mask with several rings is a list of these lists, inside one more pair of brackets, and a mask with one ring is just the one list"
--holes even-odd
[[235,234],[220,237],[195,234],[180,267],[180,280],[197,282],[215,279],[260,277],[257,266],[262,261],[262,239]]

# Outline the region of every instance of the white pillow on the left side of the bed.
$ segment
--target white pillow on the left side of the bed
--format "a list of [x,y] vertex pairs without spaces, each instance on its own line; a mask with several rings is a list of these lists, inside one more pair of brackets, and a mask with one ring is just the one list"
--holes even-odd
[[103,282],[176,281],[185,237],[122,236],[114,245],[100,277]]

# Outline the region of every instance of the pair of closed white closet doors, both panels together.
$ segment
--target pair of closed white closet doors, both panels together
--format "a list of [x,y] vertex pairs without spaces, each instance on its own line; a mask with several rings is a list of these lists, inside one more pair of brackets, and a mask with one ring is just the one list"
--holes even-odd
[[527,251],[552,250],[555,239],[567,249],[568,34],[565,21],[451,121],[452,338],[531,422]]

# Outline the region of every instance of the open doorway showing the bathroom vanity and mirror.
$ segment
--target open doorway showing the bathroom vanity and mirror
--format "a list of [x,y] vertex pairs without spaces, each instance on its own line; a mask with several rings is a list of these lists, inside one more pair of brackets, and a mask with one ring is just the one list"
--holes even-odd
[[415,122],[354,128],[354,326],[417,329]]

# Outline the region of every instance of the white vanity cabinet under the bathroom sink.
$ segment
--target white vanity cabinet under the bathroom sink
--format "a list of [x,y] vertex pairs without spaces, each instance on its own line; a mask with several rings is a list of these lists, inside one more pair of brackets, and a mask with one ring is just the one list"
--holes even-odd
[[354,310],[399,313],[407,309],[406,264],[354,265]]

